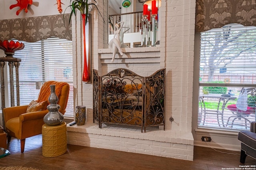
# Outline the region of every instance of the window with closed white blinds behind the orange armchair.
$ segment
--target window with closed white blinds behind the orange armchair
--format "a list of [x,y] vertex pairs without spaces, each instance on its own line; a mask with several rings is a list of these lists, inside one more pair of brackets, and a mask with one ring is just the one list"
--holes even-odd
[[36,88],[36,82],[41,84],[49,80],[67,82],[70,85],[70,93],[64,117],[74,117],[72,41],[50,37],[33,43],[19,42],[25,45],[24,49],[14,54],[14,57],[21,59],[20,105],[27,105],[32,100],[37,100],[40,87]]

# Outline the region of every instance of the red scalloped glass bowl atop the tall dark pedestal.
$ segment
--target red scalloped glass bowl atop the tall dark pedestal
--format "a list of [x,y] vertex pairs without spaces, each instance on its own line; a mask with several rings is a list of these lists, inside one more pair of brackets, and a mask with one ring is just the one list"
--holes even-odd
[[8,40],[0,40],[0,49],[4,50],[4,54],[6,57],[13,57],[14,52],[17,50],[24,49],[25,45],[20,42],[8,41]]

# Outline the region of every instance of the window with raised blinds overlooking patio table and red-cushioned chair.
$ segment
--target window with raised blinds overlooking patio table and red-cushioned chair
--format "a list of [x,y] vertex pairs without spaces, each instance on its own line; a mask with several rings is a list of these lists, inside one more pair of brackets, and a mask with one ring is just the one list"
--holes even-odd
[[250,130],[255,121],[256,27],[201,33],[198,128]]

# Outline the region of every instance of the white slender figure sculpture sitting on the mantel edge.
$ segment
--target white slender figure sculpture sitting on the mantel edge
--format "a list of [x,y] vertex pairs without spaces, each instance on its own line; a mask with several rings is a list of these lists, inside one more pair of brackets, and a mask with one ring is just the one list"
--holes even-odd
[[[120,23],[120,27],[118,28],[118,24]],[[111,62],[114,62],[116,52],[119,51],[120,55],[124,55],[121,49],[121,42],[120,42],[120,30],[122,29],[124,25],[124,21],[118,22],[116,24],[116,29],[114,33],[114,38],[109,41],[109,48],[113,50],[113,57]]]

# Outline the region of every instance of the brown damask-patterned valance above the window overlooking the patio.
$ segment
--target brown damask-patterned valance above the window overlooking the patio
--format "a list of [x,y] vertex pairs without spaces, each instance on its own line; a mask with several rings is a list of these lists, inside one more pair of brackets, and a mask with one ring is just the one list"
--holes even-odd
[[196,32],[228,23],[256,26],[255,0],[196,0]]

